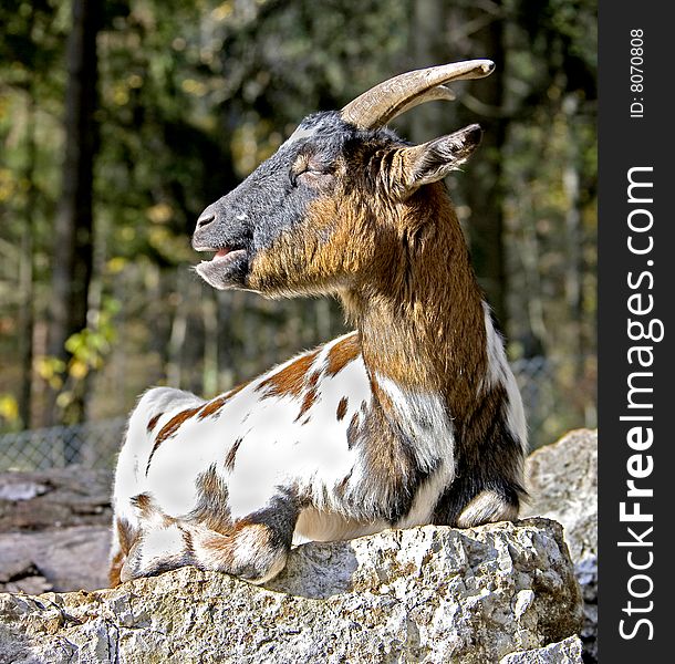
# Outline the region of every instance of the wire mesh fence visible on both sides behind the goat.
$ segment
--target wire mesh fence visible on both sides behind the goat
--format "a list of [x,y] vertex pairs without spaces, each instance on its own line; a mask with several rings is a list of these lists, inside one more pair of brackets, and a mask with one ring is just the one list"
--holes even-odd
[[[594,359],[570,363],[532,357],[512,363],[532,449],[552,443],[570,428],[596,426],[593,367]],[[125,423],[125,417],[117,417],[0,435],[0,471],[45,470],[73,464],[113,468]]]

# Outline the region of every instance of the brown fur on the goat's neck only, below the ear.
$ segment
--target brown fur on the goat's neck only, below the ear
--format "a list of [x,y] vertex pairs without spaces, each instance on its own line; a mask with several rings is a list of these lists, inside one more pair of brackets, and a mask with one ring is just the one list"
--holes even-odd
[[370,280],[343,295],[364,361],[371,375],[444,394],[453,416],[464,418],[487,372],[487,338],[459,222],[439,184],[388,217]]

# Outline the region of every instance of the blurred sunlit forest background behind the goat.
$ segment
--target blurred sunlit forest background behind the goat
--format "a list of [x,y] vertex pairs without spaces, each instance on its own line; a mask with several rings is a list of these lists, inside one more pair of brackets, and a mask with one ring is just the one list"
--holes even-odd
[[200,283],[195,221],[305,114],[470,58],[497,71],[394,126],[481,124],[448,186],[532,444],[595,424],[595,2],[3,0],[0,25],[0,469],[110,464],[149,385],[210,396],[341,333],[335,302]]

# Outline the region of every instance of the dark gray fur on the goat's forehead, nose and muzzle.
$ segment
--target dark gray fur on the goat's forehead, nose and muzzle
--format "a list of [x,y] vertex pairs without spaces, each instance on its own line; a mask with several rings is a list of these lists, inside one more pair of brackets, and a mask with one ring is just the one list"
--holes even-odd
[[305,117],[274,155],[201,214],[193,247],[217,255],[197,266],[199,276],[217,289],[247,289],[256,256],[302,224],[312,201],[333,196],[339,158],[349,162],[366,143],[375,151],[401,141],[387,129],[360,131],[336,112]]

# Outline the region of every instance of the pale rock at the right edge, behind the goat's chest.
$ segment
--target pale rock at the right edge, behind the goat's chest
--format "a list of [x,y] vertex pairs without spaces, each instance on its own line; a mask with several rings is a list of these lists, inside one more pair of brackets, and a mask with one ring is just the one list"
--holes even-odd
[[564,526],[584,600],[584,661],[598,662],[598,432],[579,429],[528,458],[532,501],[522,516]]

